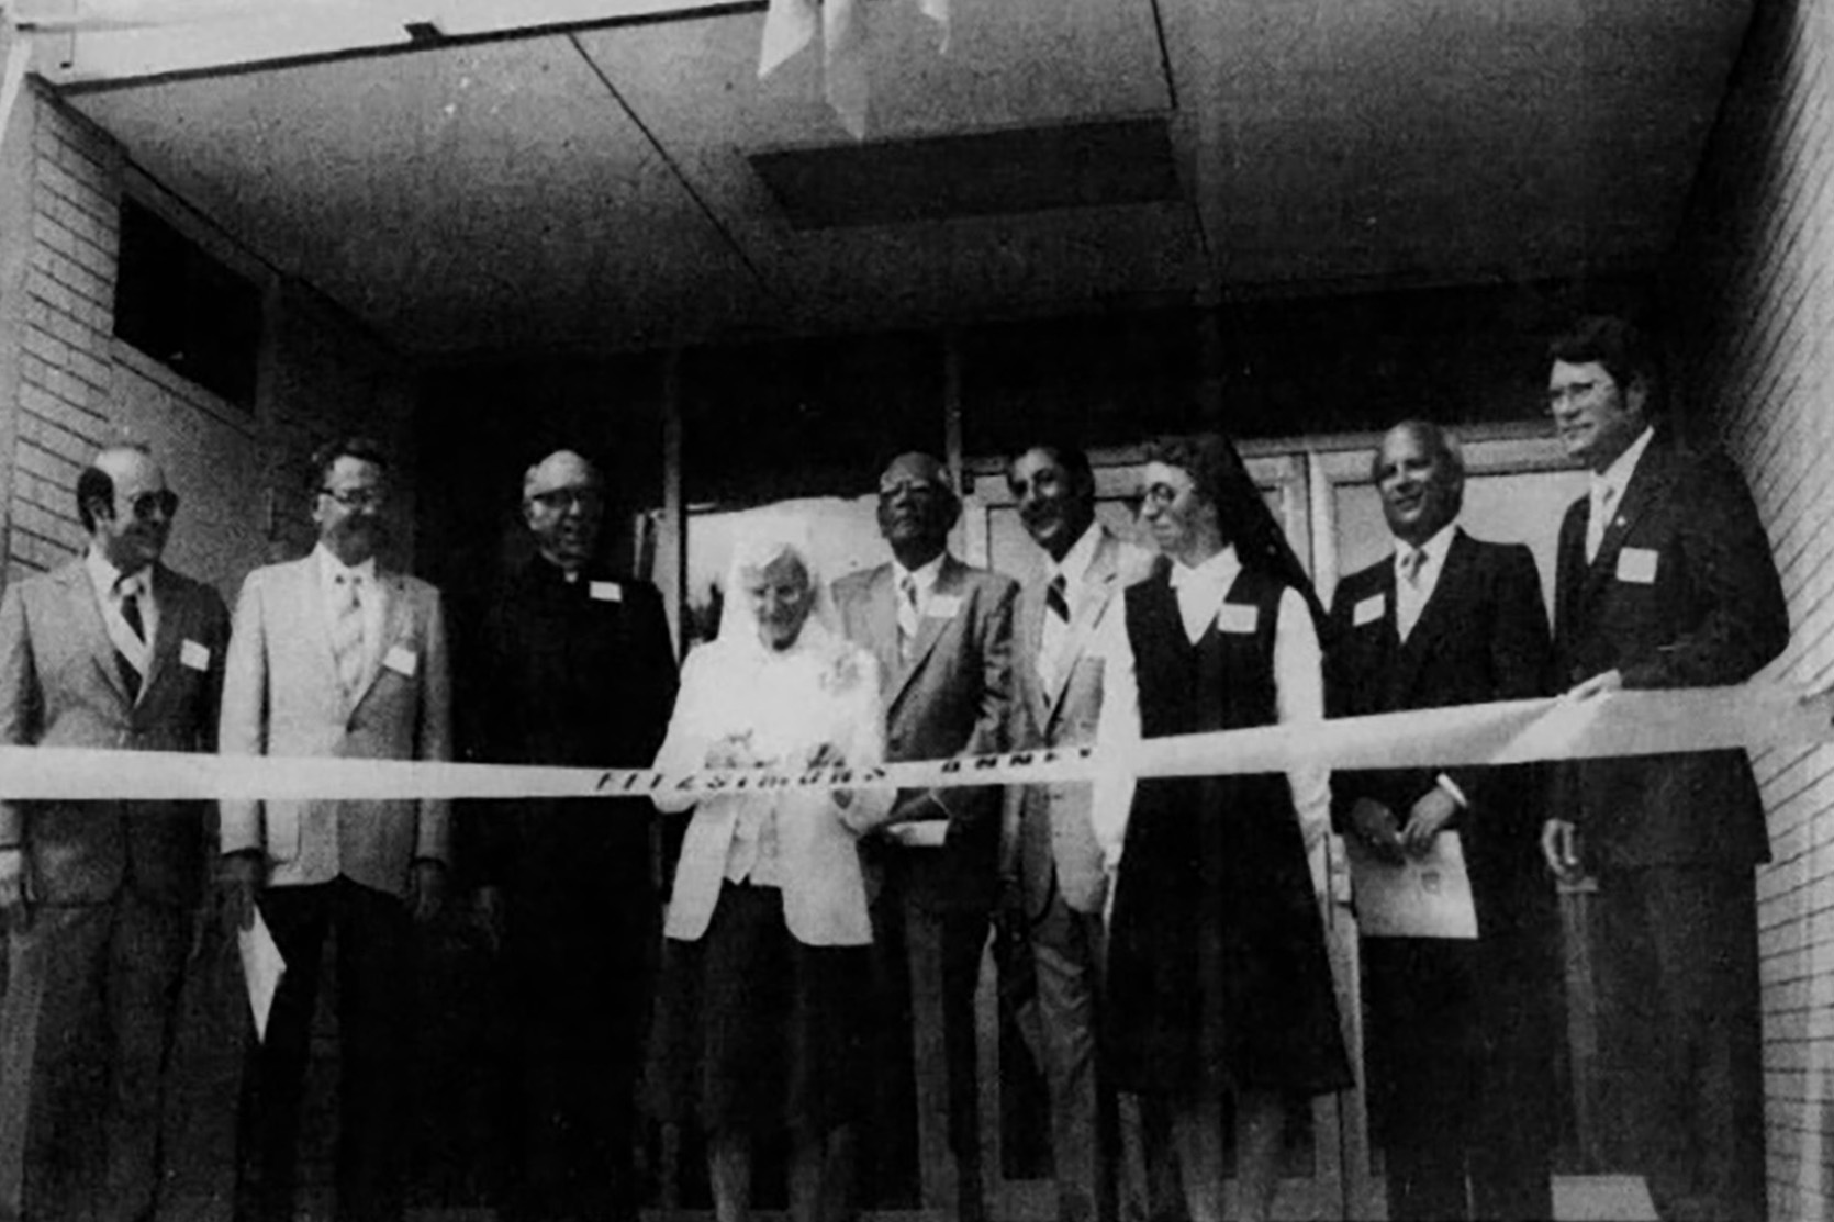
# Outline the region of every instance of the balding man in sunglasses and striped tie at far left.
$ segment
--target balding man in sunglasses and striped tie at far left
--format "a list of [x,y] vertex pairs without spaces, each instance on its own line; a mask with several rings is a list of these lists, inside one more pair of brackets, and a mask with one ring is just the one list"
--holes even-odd
[[[139,448],[77,477],[83,560],[0,602],[0,743],[211,750],[229,613],[160,563],[178,497]],[[158,1187],[160,1077],[191,914],[209,861],[200,802],[0,802],[0,1218],[57,1216],[48,1196],[57,1099],[101,980],[108,1022],[105,1149],[84,1161],[83,1216],[134,1222]],[[66,1191],[72,1185],[66,1185]]]

